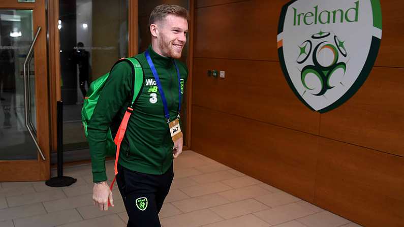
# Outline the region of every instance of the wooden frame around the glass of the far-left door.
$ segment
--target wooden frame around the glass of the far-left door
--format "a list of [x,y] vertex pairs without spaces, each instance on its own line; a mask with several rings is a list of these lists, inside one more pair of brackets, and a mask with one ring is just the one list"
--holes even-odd
[[39,154],[37,154],[36,160],[1,160],[0,172],[3,174],[0,175],[0,181],[47,180],[50,177],[48,72],[47,67],[39,67],[47,65],[45,0],[37,0],[35,3],[18,3],[16,0],[3,0],[0,9],[33,10],[34,33],[36,33],[38,26],[42,28],[34,46],[34,60],[36,66],[37,138],[45,156],[45,160],[42,160]]

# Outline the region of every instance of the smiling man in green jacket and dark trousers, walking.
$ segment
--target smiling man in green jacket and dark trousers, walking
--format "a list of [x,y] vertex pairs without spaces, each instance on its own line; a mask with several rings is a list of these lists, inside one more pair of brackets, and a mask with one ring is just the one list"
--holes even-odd
[[[118,159],[116,182],[125,204],[128,226],[161,226],[159,212],[174,177],[173,158],[182,152],[179,113],[188,69],[177,59],[187,42],[188,12],[160,5],[151,12],[151,45],[135,56],[144,71],[144,84],[129,118]],[[132,100],[132,68],[117,63],[110,72],[88,124],[93,200],[100,210],[113,206],[106,183],[108,129],[119,127]]]

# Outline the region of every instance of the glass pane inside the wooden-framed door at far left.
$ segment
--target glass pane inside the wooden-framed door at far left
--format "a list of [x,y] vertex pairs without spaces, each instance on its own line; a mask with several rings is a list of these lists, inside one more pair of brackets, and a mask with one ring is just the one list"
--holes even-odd
[[[23,63],[33,41],[32,10],[0,10],[0,160],[37,159],[25,126]],[[36,128],[34,57],[29,64],[31,103]]]

